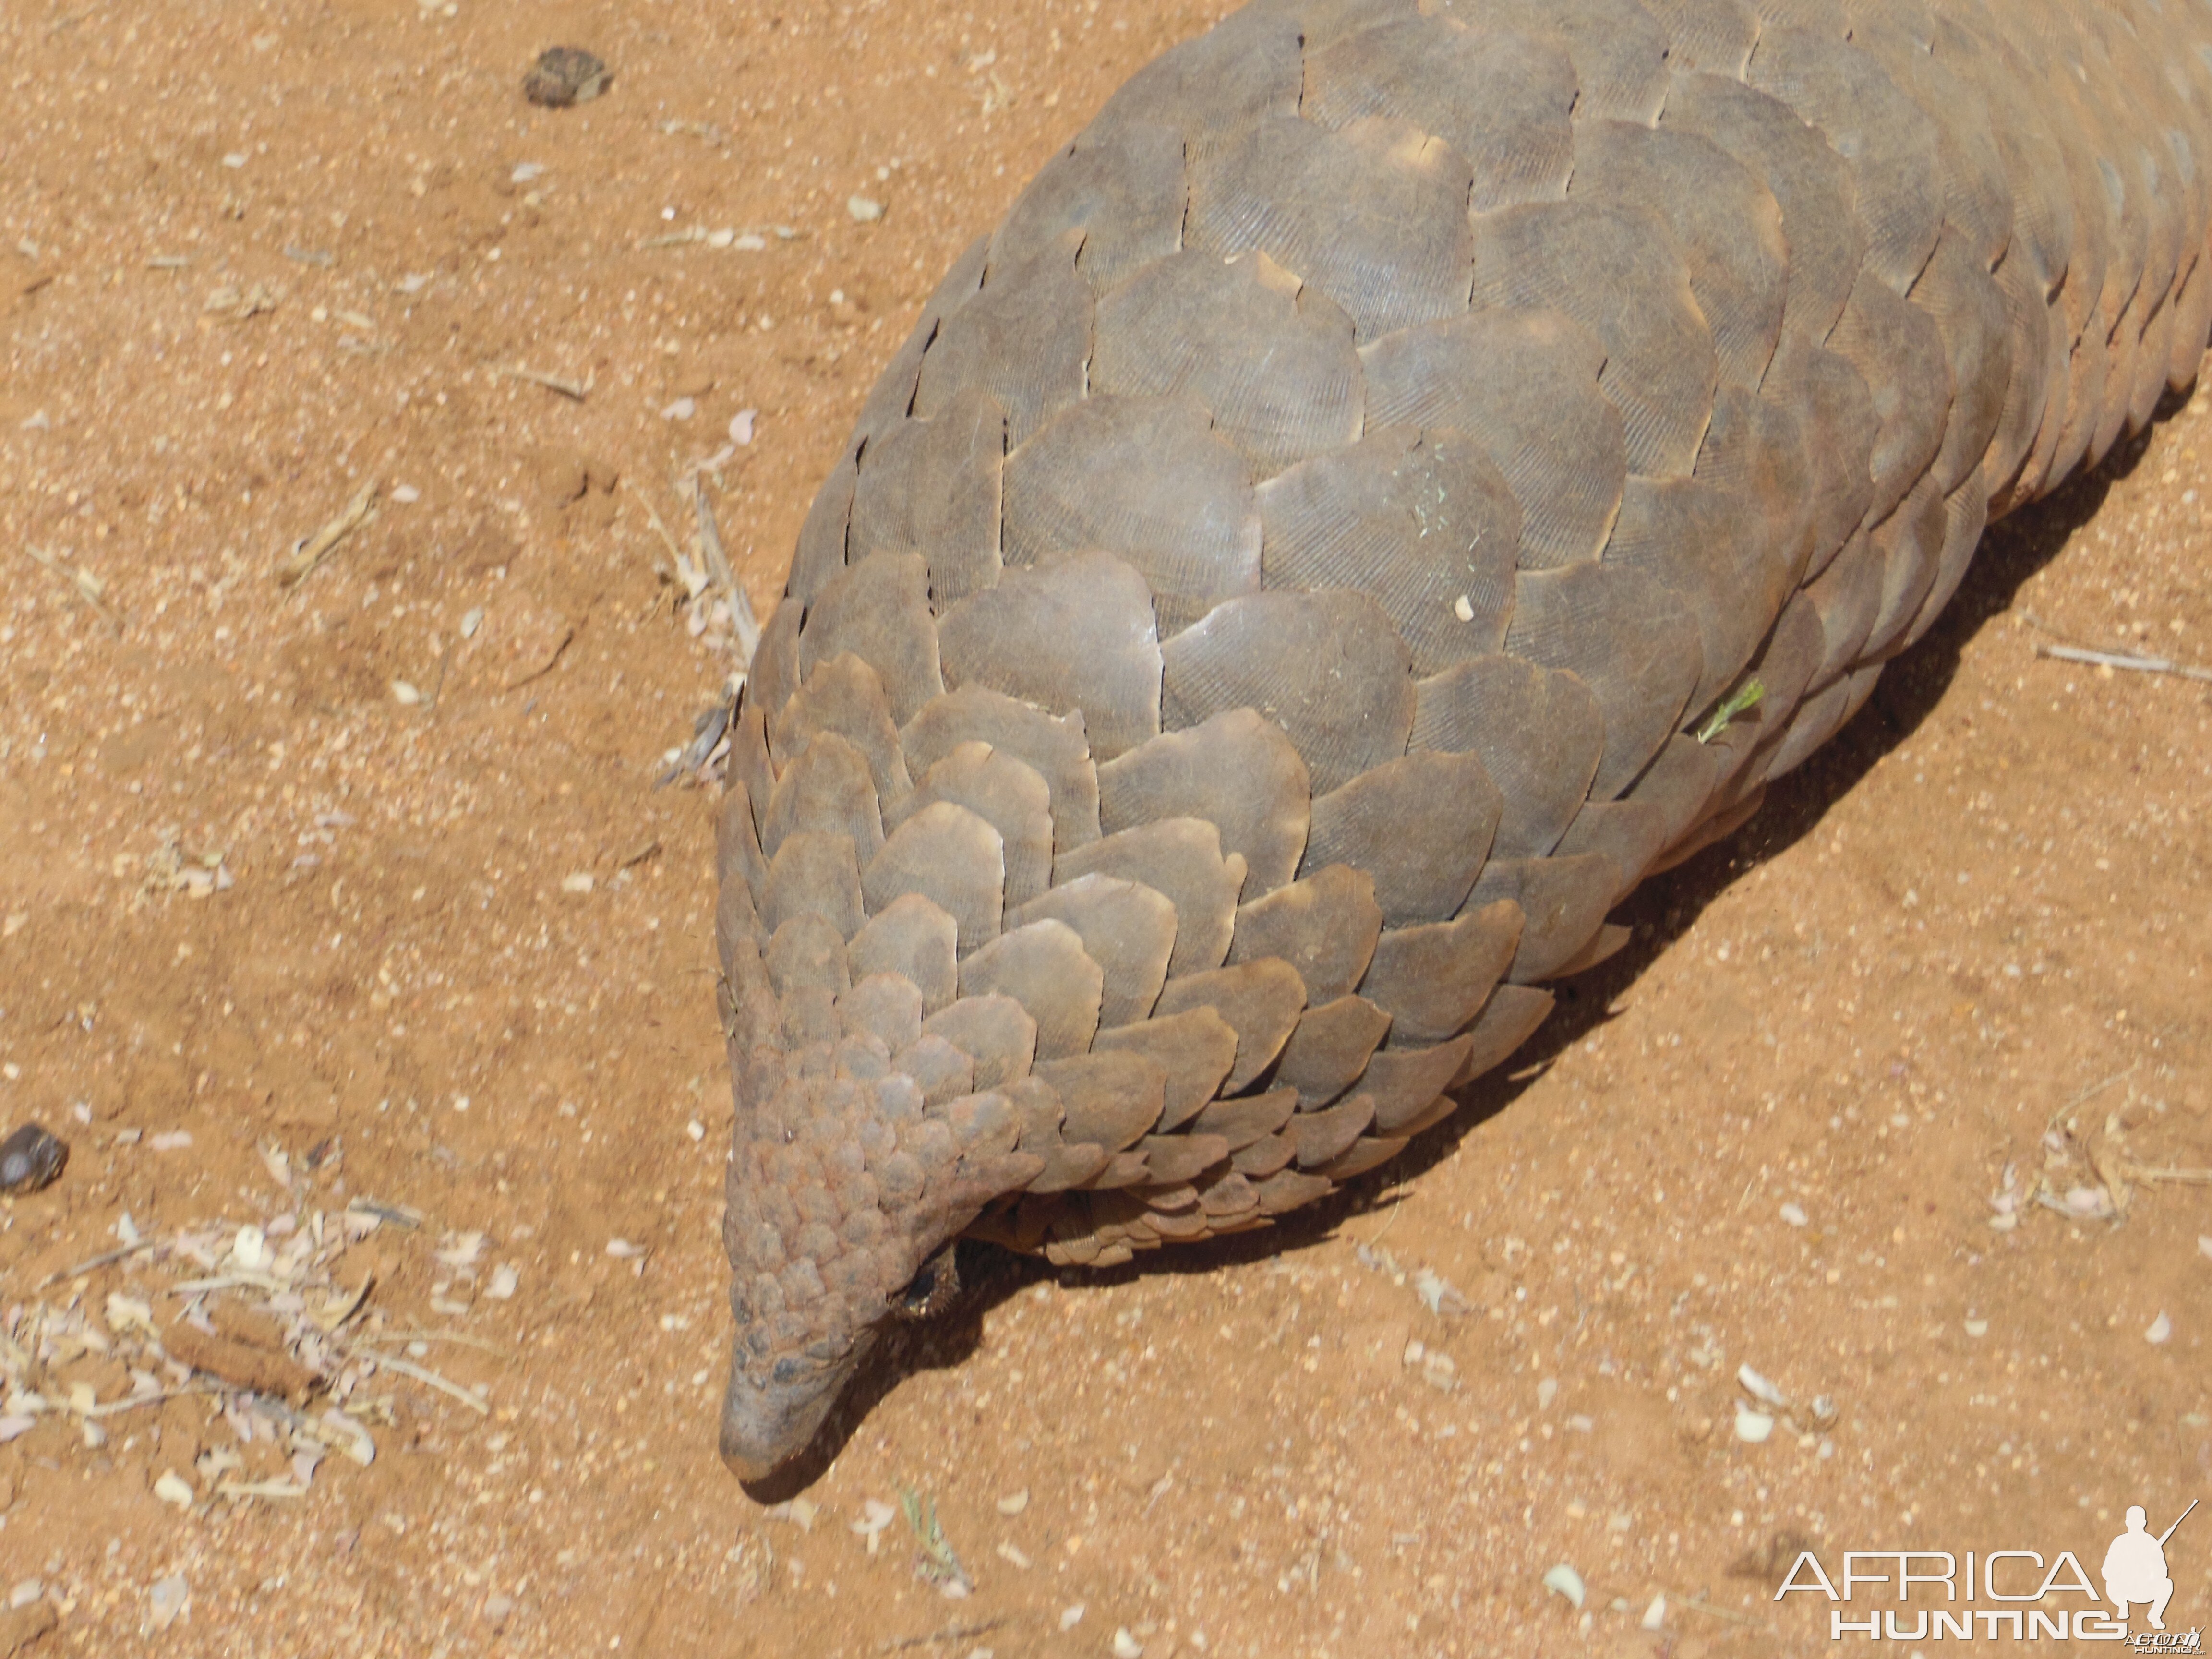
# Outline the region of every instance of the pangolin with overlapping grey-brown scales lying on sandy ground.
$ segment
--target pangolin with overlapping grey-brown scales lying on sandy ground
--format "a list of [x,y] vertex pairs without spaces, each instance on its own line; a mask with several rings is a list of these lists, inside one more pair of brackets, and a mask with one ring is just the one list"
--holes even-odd
[[2208,58],[2205,0],[1259,0],[1121,86],[732,721],[726,1462],[953,1239],[1261,1228],[1511,1055],[2192,380]]

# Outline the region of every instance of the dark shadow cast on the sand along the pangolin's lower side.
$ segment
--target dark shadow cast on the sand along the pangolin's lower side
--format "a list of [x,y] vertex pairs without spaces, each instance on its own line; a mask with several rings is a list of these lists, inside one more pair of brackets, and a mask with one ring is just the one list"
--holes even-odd
[[[2159,420],[2181,409],[2188,396],[2183,392],[2166,398],[2159,405]],[[1272,1228],[1150,1250],[1119,1267],[1051,1267],[1035,1256],[1018,1256],[998,1245],[962,1243],[958,1301],[933,1318],[894,1325],[807,1449],[768,1480],[745,1482],[745,1493],[757,1502],[774,1504],[812,1486],[869,1413],[905,1378],[960,1367],[973,1358],[982,1345],[984,1314],[1026,1285],[1042,1279],[1115,1285],[1164,1274],[1208,1274],[1237,1263],[1290,1256],[1327,1243],[1345,1221],[1367,1214],[1398,1186],[1418,1181],[1420,1175],[1449,1157],[1471,1128],[1520,1099],[1522,1091],[1542,1077],[1562,1053],[1610,1022],[1637,975],[1681,938],[1725,887],[1745,869],[1803,841],[1885,754],[1920,730],[1920,723],[1958,677],[1966,641],[1980,635],[1993,617],[2004,615],[2022,584],[2051,564],[2075,531],[2097,515],[2112,484],[2135,471],[2146,447],[2148,431],[2115,445],[2095,471],[1993,524],[1949,608],[1927,637],[1882,675],[1858,717],[1796,772],[1774,783],[1750,823],[1663,876],[1646,880],[1617,907],[1613,916],[1630,925],[1630,942],[1599,967],[1553,987],[1559,995],[1557,1009],[1522,1044],[1511,1066],[1458,1091],[1460,1108],[1422,1133],[1396,1159],[1316,1203],[1279,1217]],[[1265,1079],[1259,1086],[1263,1084]]]

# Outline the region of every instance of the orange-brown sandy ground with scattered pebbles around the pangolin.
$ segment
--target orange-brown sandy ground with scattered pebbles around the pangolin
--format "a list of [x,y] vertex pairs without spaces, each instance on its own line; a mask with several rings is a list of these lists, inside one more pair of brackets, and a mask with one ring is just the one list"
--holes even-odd
[[[1391,1179],[978,1261],[794,1502],[714,1460],[710,803],[650,783],[728,657],[653,513],[754,409],[765,613],[938,272],[1212,15],[0,9],[0,1128],[73,1146],[0,1230],[0,1650],[1827,1652],[1801,1548],[2095,1575],[2212,1495],[2212,699],[2033,650],[2212,659],[2203,403],[2000,529]],[[613,88],[529,106],[555,42]],[[330,1396],[97,1411],[272,1296],[367,1467]],[[2201,1624],[2212,1520],[2170,1571]]]

